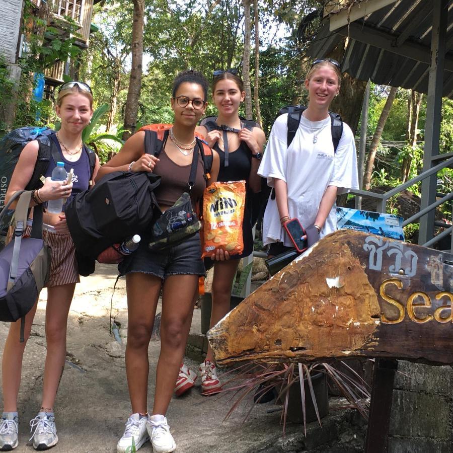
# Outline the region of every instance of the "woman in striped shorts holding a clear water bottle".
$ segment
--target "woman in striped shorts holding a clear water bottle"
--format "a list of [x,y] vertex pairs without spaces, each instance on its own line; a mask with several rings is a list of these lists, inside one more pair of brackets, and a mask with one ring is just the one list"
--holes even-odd
[[[31,181],[38,152],[42,146],[40,139],[30,141],[22,150],[8,187],[6,201],[18,190],[34,189],[30,206],[44,204],[59,198],[67,199],[87,190],[99,169],[98,157],[82,141],[82,131],[93,115],[93,94],[83,82],[68,82],[58,91],[56,114],[61,120],[61,128],[49,136],[51,152],[49,166],[40,188],[28,187]],[[40,154],[40,156],[42,156]],[[71,181],[52,181],[50,176],[57,162],[64,163],[66,174],[73,170]],[[41,409],[30,421],[33,447],[45,450],[58,442],[53,406],[58,384],[64,369],[66,357],[66,324],[74,293],[75,283],[80,281],[75,261],[75,249],[67,229],[63,211],[50,213],[44,209],[43,237],[52,250],[50,277],[47,286],[46,305],[46,359],[43,377]],[[27,226],[25,236],[31,227]],[[10,234],[12,229],[10,229]],[[25,342],[20,343],[21,321],[12,323],[3,351],[2,376],[4,412],[0,419],[0,450],[12,450],[18,445],[17,396],[21,382],[24,348],[32,328],[38,301],[25,317]]]

